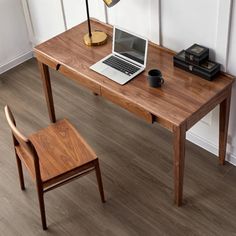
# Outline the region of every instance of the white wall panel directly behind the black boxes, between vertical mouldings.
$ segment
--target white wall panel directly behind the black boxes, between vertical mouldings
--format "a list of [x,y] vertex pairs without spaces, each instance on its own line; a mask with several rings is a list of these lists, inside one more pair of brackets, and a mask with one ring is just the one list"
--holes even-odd
[[218,0],[163,0],[162,43],[175,51],[193,43],[215,50]]

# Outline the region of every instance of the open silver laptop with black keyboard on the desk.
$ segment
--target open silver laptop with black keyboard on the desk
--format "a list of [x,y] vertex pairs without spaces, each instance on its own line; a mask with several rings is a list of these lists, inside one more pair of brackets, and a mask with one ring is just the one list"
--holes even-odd
[[147,48],[147,39],[114,27],[112,53],[90,68],[123,85],[144,71]]

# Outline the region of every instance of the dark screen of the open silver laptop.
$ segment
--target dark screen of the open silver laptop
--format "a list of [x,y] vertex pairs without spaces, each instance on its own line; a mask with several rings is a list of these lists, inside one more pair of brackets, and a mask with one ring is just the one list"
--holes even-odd
[[115,28],[114,52],[144,65],[146,40]]

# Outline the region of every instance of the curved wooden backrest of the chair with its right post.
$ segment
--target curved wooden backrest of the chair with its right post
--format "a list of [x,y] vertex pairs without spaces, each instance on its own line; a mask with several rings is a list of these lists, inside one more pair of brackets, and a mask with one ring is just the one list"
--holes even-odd
[[11,109],[9,108],[8,105],[5,106],[4,110],[5,110],[7,122],[11,128],[11,131],[12,131],[14,146],[15,147],[21,146],[21,148],[23,148],[23,150],[26,151],[29,154],[29,156],[31,156],[33,158],[36,179],[37,178],[41,179],[38,154],[35,150],[34,145],[31,143],[31,141],[27,137],[25,137],[16,128],[16,122],[15,122],[14,116],[13,116]]

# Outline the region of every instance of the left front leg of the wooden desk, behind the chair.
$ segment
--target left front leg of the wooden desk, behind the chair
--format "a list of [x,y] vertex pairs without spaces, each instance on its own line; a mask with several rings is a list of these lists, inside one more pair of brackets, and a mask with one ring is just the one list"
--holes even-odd
[[53,104],[52,88],[51,88],[51,81],[50,81],[50,74],[49,74],[48,66],[43,64],[42,62],[38,62],[38,64],[39,64],[39,70],[41,73],[41,79],[43,81],[43,90],[44,90],[44,95],[47,102],[49,118],[51,122],[55,123],[56,116],[55,116],[55,109],[54,109],[54,104]]

